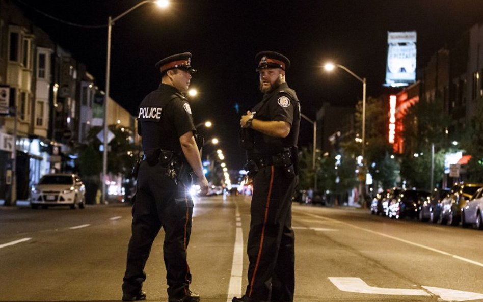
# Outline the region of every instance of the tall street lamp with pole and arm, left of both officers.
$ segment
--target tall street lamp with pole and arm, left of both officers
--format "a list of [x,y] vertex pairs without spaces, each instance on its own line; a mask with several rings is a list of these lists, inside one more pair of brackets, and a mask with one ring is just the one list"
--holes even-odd
[[144,0],[137,5],[131,7],[130,9],[126,10],[122,14],[117,17],[112,18],[111,16],[108,17],[108,54],[105,63],[105,100],[104,100],[104,142],[103,142],[103,153],[102,153],[102,199],[106,201],[106,194],[105,194],[105,177],[108,173],[108,101],[109,101],[109,81],[110,81],[110,73],[111,73],[111,32],[114,22],[119,20],[120,18],[124,17],[128,13],[132,12],[133,10],[137,9],[138,7],[147,4],[147,3],[155,3],[160,8],[166,8],[169,5],[168,0]]

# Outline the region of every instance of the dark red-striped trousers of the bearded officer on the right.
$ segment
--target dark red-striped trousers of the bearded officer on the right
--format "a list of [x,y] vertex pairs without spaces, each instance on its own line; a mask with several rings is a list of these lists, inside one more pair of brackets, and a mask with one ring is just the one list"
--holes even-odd
[[247,253],[250,301],[292,302],[294,234],[292,196],[298,176],[287,178],[282,167],[261,168],[253,179]]

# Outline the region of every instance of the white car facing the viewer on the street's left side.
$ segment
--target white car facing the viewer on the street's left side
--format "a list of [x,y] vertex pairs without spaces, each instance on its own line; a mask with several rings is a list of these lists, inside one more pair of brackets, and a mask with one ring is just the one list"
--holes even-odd
[[33,209],[59,205],[68,205],[71,209],[77,205],[83,209],[85,193],[84,184],[75,174],[46,174],[32,187],[30,205]]

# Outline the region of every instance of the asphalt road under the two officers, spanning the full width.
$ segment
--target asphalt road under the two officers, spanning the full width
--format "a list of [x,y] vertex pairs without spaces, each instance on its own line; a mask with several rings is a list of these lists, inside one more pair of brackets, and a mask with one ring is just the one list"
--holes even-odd
[[[191,289],[225,302],[247,284],[250,198],[195,200]],[[293,204],[296,301],[483,301],[483,232]],[[128,205],[0,208],[0,301],[120,301]],[[146,265],[166,301],[163,232]],[[479,299],[479,300],[478,300]]]

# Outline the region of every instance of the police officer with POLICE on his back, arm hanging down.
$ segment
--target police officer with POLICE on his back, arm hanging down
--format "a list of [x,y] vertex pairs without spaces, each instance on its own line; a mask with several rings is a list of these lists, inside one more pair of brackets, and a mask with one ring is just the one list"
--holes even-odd
[[162,227],[169,302],[200,300],[189,288],[191,273],[186,262],[193,215],[189,190],[193,173],[201,186],[200,194],[206,195],[208,182],[198,148],[202,143],[197,145],[195,140],[190,104],[183,95],[190,85],[191,74],[196,71],[190,61],[191,53],[185,52],[157,62],[161,84],[139,106],[138,133],[142,136],[144,156],[132,207],[123,301],[146,299],[142,291],[146,279],[144,266]]

